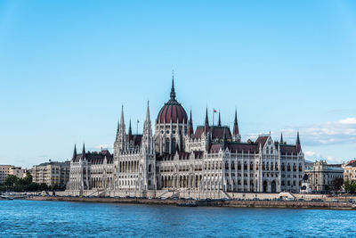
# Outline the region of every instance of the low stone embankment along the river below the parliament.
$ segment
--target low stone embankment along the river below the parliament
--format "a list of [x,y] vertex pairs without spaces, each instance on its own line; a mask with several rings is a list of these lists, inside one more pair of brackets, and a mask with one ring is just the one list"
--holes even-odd
[[271,209],[338,209],[356,210],[351,202],[330,201],[236,201],[236,200],[173,200],[173,199],[136,199],[136,198],[87,198],[87,197],[30,197],[28,201],[74,201],[93,203],[128,203],[144,205],[171,205],[193,207],[225,207],[225,208],[271,208]]

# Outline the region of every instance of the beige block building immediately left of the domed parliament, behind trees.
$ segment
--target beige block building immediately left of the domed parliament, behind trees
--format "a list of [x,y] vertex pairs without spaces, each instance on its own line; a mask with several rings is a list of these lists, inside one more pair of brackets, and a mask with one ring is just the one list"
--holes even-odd
[[49,161],[32,168],[33,182],[48,186],[61,185],[65,187],[69,181],[69,161]]

